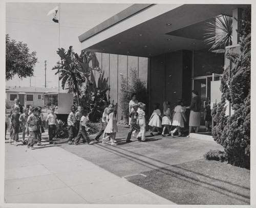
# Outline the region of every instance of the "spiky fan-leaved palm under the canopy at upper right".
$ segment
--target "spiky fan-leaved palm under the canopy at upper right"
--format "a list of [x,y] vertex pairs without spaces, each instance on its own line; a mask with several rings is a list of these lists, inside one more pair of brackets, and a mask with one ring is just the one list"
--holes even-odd
[[225,50],[225,47],[232,44],[232,17],[220,15],[214,20],[206,23],[209,27],[205,33],[206,44],[211,44],[209,51],[217,52]]

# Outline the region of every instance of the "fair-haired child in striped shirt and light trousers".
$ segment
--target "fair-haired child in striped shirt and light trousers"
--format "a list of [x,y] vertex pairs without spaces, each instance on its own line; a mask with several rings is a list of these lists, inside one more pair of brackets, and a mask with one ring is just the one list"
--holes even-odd
[[138,103],[138,123],[140,126],[140,132],[137,135],[137,139],[141,142],[146,142],[146,122],[145,122],[145,109],[146,105],[144,103],[139,102]]

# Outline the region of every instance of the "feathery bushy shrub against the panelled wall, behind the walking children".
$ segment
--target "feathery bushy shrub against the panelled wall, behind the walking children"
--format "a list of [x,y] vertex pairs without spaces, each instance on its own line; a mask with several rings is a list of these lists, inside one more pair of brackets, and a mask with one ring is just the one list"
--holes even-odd
[[[121,75],[121,98],[120,107],[122,109],[123,120],[128,123],[129,120],[129,102],[131,101],[132,94],[137,94],[137,100],[142,103],[147,103],[147,89],[146,83],[138,78],[136,68],[130,69],[130,77],[125,79]],[[147,107],[147,105],[146,105]]]

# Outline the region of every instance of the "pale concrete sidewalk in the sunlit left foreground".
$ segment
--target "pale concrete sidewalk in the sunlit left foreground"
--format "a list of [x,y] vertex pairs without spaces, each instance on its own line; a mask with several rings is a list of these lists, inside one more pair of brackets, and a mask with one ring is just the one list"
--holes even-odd
[[6,203],[174,204],[58,144],[42,145],[31,150],[6,140]]

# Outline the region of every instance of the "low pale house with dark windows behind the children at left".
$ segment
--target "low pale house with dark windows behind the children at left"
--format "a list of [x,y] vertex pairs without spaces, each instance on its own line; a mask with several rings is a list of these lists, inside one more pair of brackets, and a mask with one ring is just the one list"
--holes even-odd
[[6,87],[6,106],[10,108],[18,98],[22,106],[44,107],[44,94],[57,92],[58,89],[45,87]]

